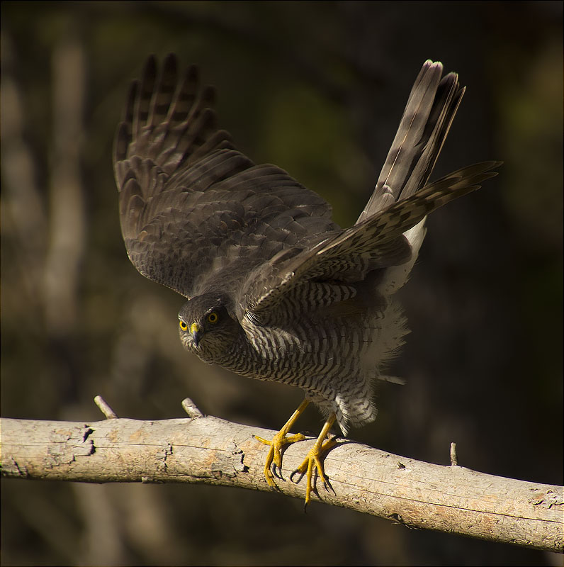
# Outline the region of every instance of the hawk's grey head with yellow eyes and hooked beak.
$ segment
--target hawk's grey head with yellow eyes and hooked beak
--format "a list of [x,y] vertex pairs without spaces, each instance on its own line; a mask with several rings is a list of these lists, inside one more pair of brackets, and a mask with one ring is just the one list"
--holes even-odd
[[179,334],[186,349],[204,360],[213,361],[237,341],[241,327],[230,315],[225,296],[205,293],[192,298],[179,312]]

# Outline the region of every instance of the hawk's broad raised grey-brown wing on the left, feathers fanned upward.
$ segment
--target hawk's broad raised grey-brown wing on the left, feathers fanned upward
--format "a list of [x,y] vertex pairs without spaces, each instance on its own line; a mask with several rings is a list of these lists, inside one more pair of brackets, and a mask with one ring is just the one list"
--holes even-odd
[[115,136],[125,247],[147,278],[186,297],[236,288],[256,266],[311,234],[338,230],[329,204],[282,169],[255,165],[219,130],[196,67],[178,77],[150,57]]

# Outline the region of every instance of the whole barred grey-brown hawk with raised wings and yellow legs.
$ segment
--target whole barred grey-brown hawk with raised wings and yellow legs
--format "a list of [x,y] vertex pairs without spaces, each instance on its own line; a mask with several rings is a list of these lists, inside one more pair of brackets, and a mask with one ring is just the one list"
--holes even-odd
[[[426,216],[495,176],[500,162],[429,175],[464,94],[458,75],[424,62],[376,187],[350,228],[329,203],[275,165],[257,165],[220,130],[198,70],[160,72],[150,57],[115,136],[120,223],[141,274],[181,293],[184,347],[237,374],[302,388],[305,399],[266,440],[276,488],[281,449],[313,403],[326,421],[303,464],[306,505],[334,424],[343,435],[376,418],[373,382],[402,344],[394,301],[417,259]],[[327,439],[327,440],[326,440]]]

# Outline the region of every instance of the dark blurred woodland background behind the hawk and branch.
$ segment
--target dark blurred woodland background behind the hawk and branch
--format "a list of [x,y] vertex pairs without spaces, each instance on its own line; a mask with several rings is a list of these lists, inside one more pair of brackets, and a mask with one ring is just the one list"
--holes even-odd
[[[402,291],[411,335],[351,437],[393,453],[563,482],[562,3],[1,4],[1,414],[205,413],[280,427],[302,394],[181,348],[183,299],[137,274],[111,167],[128,83],[177,52],[220,124],[354,223],[427,58],[468,86],[434,178],[500,176],[434,213]],[[309,410],[299,426],[317,432]],[[410,530],[275,493],[1,482],[2,565],[523,565],[562,556]]]

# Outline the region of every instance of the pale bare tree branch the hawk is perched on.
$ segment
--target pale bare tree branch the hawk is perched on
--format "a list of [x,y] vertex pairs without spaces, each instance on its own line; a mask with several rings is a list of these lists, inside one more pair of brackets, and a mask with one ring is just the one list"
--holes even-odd
[[[103,402],[103,400],[101,400]],[[99,404],[98,404],[99,405]],[[253,434],[275,433],[204,416],[190,419],[55,422],[3,418],[3,476],[91,483],[208,483],[271,490],[263,476],[268,447]],[[110,414],[113,410],[107,406]],[[113,414],[115,415],[115,414]],[[303,498],[289,480],[315,439],[283,456],[281,493]],[[340,441],[325,459],[332,491],[325,503],[401,522],[536,549],[563,552],[563,488],[415,461]]]

